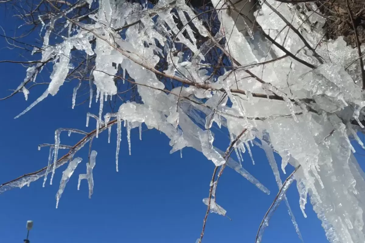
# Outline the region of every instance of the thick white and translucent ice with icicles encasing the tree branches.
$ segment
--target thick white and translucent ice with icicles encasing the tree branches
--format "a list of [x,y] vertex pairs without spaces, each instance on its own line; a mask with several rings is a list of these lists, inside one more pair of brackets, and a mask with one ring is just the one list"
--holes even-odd
[[[88,1],[89,4],[91,2]],[[144,124],[147,129],[157,129],[170,139],[170,153],[192,147],[216,166],[228,165],[263,192],[269,193],[242,167],[242,153],[247,151],[253,158],[250,143],[259,139],[279,188],[282,180],[273,152],[283,158],[281,170],[284,173],[289,165],[300,166],[289,182],[294,179],[297,182],[299,207],[304,216],[309,195],[330,242],[365,242],[364,174],[353,156],[355,151],[349,140],[349,137],[354,137],[364,146],[357,136],[358,131],[363,132],[361,122],[365,114],[358,76],[360,67],[354,62],[358,59],[357,50],[346,46],[341,37],[323,40],[320,29],[313,29],[311,25],[321,25],[323,20],[313,17],[313,12],[308,12],[304,4],[298,4],[298,10],[291,4],[262,1],[262,7],[254,16],[265,32],[247,31],[245,33],[250,36],[245,36],[239,30],[250,26],[250,20],[243,19],[230,1],[212,0],[212,3],[221,8],[215,13],[219,31],[214,35],[210,34],[201,16],[197,16],[183,0],[160,0],[149,11],[143,4],[99,0],[99,9],[89,16],[93,20],[91,24],[75,22],[73,34],[64,37],[62,43],[42,51],[42,61],[54,60],[51,82],[47,90],[16,118],[49,94],[57,94],[69,72],[72,51],[84,51],[87,56],[95,56],[95,68],[90,78],[90,106],[95,94],[93,90],[96,90],[96,101],[99,101],[98,116],[87,115],[87,126],[90,116],[97,121],[96,132],[87,140],[108,129],[110,142],[111,126],[116,124],[117,171],[124,121],[129,151],[130,130],[138,127],[141,139]],[[229,11],[227,7],[230,7]],[[236,11],[236,14],[230,11]],[[306,20],[308,15],[312,17]],[[299,32],[293,31],[282,19],[283,16],[292,20],[290,24]],[[49,45],[50,32],[57,18],[61,17],[62,14],[57,15],[45,27],[44,46]],[[174,18],[181,21],[183,29],[178,28]],[[119,30],[124,31],[122,35]],[[209,40],[204,44],[198,43],[196,35]],[[95,48],[92,48],[91,42],[95,43]],[[184,51],[182,46],[189,51]],[[201,68],[212,48],[230,57],[231,63],[221,68],[220,75],[211,75],[212,71]],[[166,59],[167,67],[157,70],[156,65],[162,58]],[[273,59],[276,60],[269,62]],[[114,81],[118,70],[114,64],[123,70],[123,83],[132,82],[137,86],[141,101],[124,102],[115,113],[105,114],[103,121],[104,98],[118,93]],[[27,77],[18,90],[24,83],[34,80],[39,71],[39,66],[28,68]],[[171,88],[158,77],[170,82],[174,80],[179,85]],[[78,87],[74,88],[73,107]],[[27,98],[26,89],[22,91]],[[223,153],[213,146],[214,127],[227,128],[231,142],[246,130],[234,144],[239,162],[231,158],[226,161]],[[65,159],[58,158],[61,146],[59,133],[59,130],[55,133],[54,152],[50,152],[49,164],[44,170],[7,184],[0,191],[22,187],[50,171],[52,182],[55,169],[65,163]],[[85,141],[80,145],[84,146]],[[73,156],[82,146],[73,149],[70,154]],[[79,177],[79,180],[88,180],[89,196],[93,185],[94,152],[87,174]],[[53,153],[54,161],[51,163]],[[77,159],[70,162],[64,172],[58,199],[78,162]],[[280,195],[281,199],[287,204],[295,230],[301,238],[285,194]],[[203,200],[205,204],[208,201],[209,198]],[[226,213],[214,198],[211,198],[210,209],[222,215]]]

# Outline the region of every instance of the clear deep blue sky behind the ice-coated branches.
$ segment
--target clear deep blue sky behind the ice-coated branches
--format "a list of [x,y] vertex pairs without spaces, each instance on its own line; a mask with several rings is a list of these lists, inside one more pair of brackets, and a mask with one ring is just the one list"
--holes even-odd
[[[0,15],[0,25],[10,30],[14,23],[4,17],[3,9]],[[0,38],[1,60],[21,60],[19,50],[3,47],[5,41]],[[0,74],[0,94],[4,97],[9,92],[7,89],[14,89],[24,79],[25,69],[19,64],[0,63]],[[39,78],[41,81],[42,76]],[[72,110],[74,86],[76,83],[62,86],[55,97],[47,98],[16,120],[13,117],[37,99],[46,86],[30,90],[27,102],[22,93],[0,101],[0,183],[46,166],[48,149],[38,151],[37,146],[53,143],[55,129],[94,129],[95,121],[90,122],[89,128],[85,127],[86,113],[97,114],[99,104],[93,102],[91,109],[85,104]],[[75,134],[70,138],[64,134],[61,143],[72,145],[78,138]],[[217,138],[216,145],[225,149],[229,142],[227,137],[219,135]],[[213,163],[191,148],[183,150],[183,158],[178,152],[169,154],[168,139],[155,130],[143,132],[142,141],[139,141],[138,129],[134,129],[131,141],[132,155],[129,156],[126,132],[123,130],[117,173],[116,128],[112,129],[111,144],[107,143],[107,133],[94,140],[93,149],[98,154],[91,200],[88,199],[86,181],[82,181],[80,191],[77,191],[78,174],[86,170],[87,148],[77,155],[84,160],[68,182],[58,209],[55,208],[55,194],[65,166],[57,170],[53,185],[47,183],[42,188],[41,179],[30,187],[1,194],[0,242],[23,242],[26,221],[34,220],[31,243],[195,243],[206,211],[202,199],[208,196]],[[232,221],[210,214],[203,242],[254,242],[258,226],[278,188],[263,150],[255,147],[253,156],[256,165],[252,165],[246,154],[244,167],[269,188],[271,194],[262,193],[227,168],[217,189],[217,201],[227,210]],[[280,168],[280,159],[276,158]],[[364,158],[359,155],[357,158],[362,165]],[[287,171],[290,173],[292,169]],[[281,177],[284,179],[285,175],[281,173]],[[306,209],[308,218],[301,214],[295,184],[287,195],[304,242],[327,242],[310,203]],[[280,205],[270,220],[263,242],[300,242],[285,203]]]

